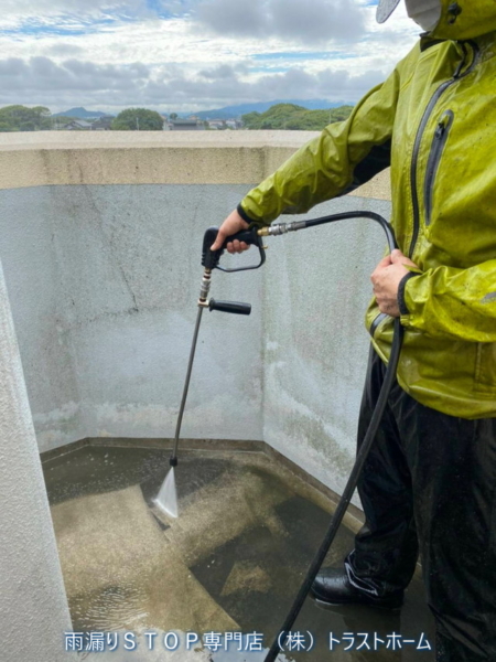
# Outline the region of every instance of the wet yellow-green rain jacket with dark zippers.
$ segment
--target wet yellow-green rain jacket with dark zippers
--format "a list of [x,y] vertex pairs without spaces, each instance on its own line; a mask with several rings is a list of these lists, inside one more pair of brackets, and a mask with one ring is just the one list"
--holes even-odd
[[[403,281],[398,381],[445,414],[496,417],[496,0],[442,6],[389,78],[239,209],[267,225],[390,164],[398,245],[422,271]],[[392,320],[375,300],[366,324],[387,361]]]

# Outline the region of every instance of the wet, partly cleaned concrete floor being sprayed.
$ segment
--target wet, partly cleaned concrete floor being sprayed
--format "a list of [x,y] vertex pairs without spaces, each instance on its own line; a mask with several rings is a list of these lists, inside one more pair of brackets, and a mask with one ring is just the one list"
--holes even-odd
[[[74,630],[120,634],[119,655],[83,656],[261,662],[254,633],[270,645],[334,506],[263,453],[197,451],[175,470],[174,520],[153,504],[168,467],[165,450],[91,446],[44,463]],[[325,565],[341,564],[352,547],[353,533],[342,526]],[[166,651],[161,638],[172,630],[181,643]],[[141,636],[134,651],[123,650],[126,631]],[[153,650],[143,639],[150,631],[158,633]],[[296,636],[280,660],[434,659],[418,650],[422,633],[433,645],[433,621],[417,575],[401,611],[323,610],[308,599],[293,631],[305,640]],[[233,641],[228,651],[201,642],[187,651],[186,632],[231,632]],[[309,632],[314,647],[305,651]]]

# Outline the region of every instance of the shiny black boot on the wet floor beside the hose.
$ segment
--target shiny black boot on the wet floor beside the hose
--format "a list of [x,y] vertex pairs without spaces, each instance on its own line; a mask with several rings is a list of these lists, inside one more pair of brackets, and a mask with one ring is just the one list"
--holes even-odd
[[355,588],[344,568],[321,570],[312,585],[311,595],[320,607],[367,605],[379,609],[399,609],[403,604],[402,590],[378,597]]

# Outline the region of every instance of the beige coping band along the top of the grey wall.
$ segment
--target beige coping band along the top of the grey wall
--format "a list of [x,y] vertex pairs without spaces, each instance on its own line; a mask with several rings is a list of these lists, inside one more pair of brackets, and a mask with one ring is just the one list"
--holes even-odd
[[[37,131],[0,135],[0,189],[67,184],[246,184],[313,131]],[[390,200],[384,173],[353,195]]]

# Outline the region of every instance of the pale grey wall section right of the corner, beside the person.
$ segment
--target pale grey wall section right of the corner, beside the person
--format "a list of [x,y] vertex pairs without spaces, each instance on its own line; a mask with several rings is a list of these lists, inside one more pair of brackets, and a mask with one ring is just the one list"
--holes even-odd
[[[390,203],[345,196],[309,218]],[[369,338],[364,312],[384,233],[371,221],[339,221],[270,239],[263,309],[263,438],[341,493],[355,437]]]

